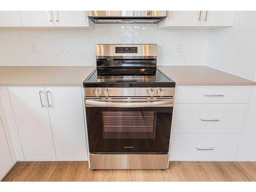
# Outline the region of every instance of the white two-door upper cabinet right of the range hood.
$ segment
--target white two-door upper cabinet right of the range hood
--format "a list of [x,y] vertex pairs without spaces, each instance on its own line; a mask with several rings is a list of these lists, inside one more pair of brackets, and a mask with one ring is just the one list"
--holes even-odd
[[235,13],[236,11],[168,11],[168,16],[158,24],[158,29],[232,26]]

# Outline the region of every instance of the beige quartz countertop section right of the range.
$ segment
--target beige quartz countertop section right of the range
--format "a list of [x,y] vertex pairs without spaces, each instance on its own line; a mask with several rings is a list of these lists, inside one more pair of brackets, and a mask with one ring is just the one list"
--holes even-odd
[[255,86],[255,82],[206,66],[159,66],[177,86]]

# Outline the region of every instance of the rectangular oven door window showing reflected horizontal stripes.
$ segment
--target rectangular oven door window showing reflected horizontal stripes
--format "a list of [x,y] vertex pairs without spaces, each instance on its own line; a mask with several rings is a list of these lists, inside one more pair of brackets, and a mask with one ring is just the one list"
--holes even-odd
[[155,139],[154,111],[102,112],[103,139]]

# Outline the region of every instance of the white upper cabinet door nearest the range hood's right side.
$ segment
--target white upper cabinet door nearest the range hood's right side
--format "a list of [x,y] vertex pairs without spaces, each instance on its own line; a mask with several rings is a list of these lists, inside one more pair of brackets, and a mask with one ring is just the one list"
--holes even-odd
[[169,11],[168,26],[200,26],[201,11]]

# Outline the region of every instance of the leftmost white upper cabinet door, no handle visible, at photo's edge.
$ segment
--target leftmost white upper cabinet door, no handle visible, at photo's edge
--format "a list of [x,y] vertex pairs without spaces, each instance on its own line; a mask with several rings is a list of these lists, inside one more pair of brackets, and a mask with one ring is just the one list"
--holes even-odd
[[22,27],[19,11],[0,11],[0,27]]

